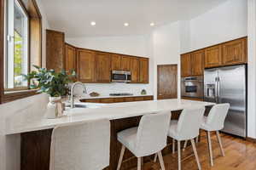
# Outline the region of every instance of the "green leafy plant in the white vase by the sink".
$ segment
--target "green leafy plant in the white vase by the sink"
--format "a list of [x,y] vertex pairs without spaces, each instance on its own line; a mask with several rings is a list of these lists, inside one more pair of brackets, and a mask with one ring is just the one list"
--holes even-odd
[[23,75],[29,82],[30,88],[38,88],[38,93],[49,94],[51,97],[65,96],[68,92],[68,83],[73,82],[76,77],[75,71],[68,74],[67,71],[55,72],[47,70],[37,65],[33,65],[37,71],[32,71],[28,75]]

